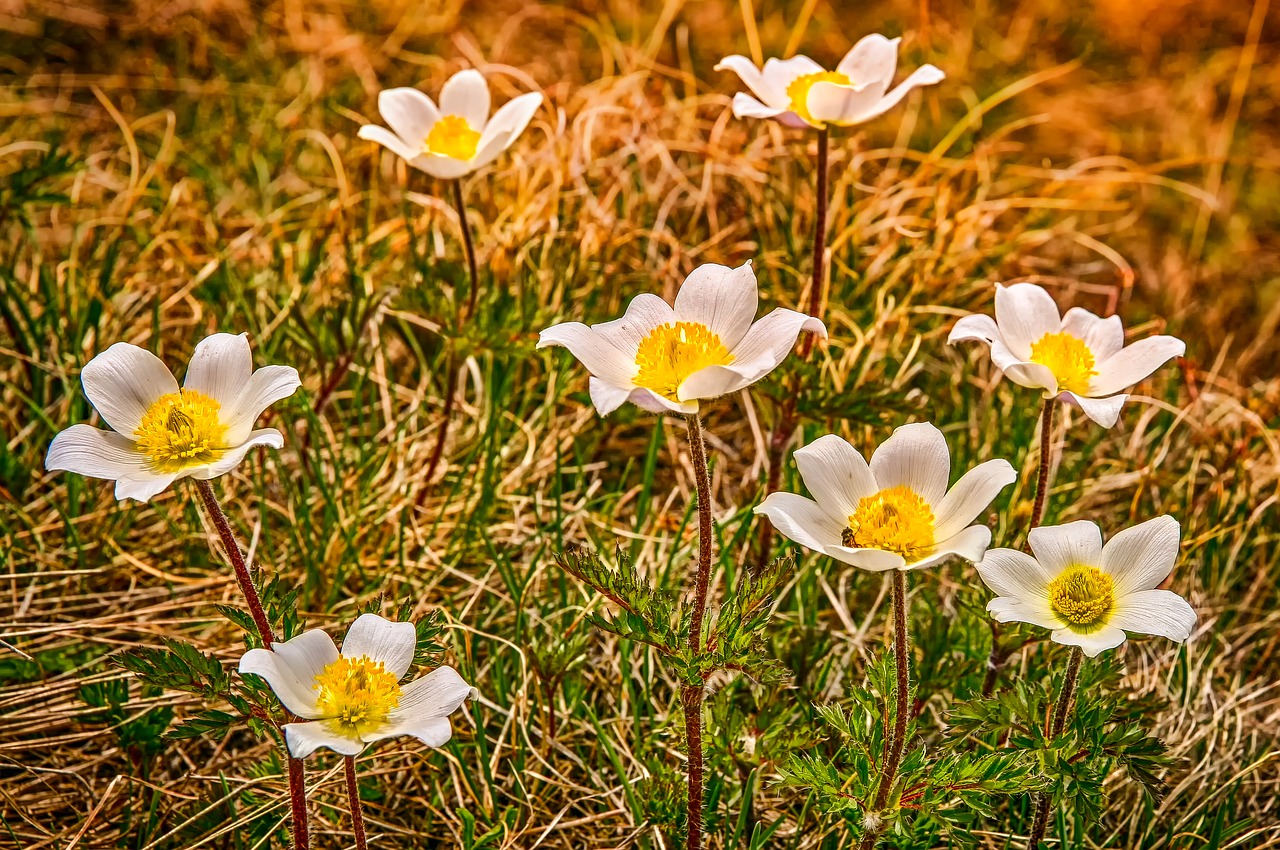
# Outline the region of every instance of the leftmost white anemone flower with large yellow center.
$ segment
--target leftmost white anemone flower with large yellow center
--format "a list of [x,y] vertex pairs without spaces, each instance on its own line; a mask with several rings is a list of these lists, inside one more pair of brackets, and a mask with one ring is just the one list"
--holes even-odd
[[45,469],[114,480],[115,498],[138,502],[178,479],[224,475],[255,445],[283,447],[280,431],[253,422],[301,385],[292,366],[255,370],[246,334],[202,339],[182,388],[159,357],[123,342],[88,361],[81,384],[113,430],[72,425]]

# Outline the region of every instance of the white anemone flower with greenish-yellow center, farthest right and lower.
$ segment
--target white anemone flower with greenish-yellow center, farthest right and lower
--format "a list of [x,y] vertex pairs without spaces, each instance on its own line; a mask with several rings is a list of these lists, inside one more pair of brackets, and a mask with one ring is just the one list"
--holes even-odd
[[1158,516],[1125,529],[1102,545],[1093,522],[1032,529],[1033,558],[991,549],[978,575],[1000,594],[987,603],[998,622],[1052,629],[1052,640],[1093,658],[1125,641],[1125,632],[1179,643],[1196,627],[1196,612],[1171,590],[1157,590],[1178,561],[1178,521]]

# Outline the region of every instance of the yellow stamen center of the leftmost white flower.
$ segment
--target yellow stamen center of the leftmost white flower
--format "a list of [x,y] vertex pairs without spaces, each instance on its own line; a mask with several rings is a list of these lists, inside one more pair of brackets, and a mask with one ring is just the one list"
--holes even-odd
[[133,431],[137,448],[159,472],[180,472],[216,461],[227,448],[221,406],[195,389],[161,396]]

